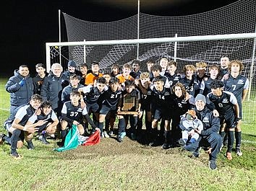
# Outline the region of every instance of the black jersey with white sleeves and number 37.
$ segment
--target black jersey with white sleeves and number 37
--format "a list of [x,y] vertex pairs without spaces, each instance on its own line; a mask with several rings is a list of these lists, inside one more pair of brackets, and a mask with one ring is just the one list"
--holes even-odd
[[[74,106],[72,102],[65,102],[62,110],[61,110],[61,117],[67,117],[69,122],[76,120],[77,122],[82,122],[82,115],[88,114],[86,107],[84,109],[81,108],[81,104]],[[64,120],[65,117],[63,118]]]

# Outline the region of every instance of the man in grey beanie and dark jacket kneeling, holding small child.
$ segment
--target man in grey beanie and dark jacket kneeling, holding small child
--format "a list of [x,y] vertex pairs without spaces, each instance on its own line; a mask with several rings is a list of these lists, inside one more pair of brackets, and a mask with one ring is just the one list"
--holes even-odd
[[209,168],[212,170],[217,169],[216,159],[221,150],[221,136],[220,119],[213,116],[213,112],[205,107],[206,99],[202,94],[197,94],[195,97],[195,107],[197,112],[197,118],[202,121],[203,130],[195,129],[195,133],[200,135],[195,143],[191,143],[188,146],[184,146],[187,151],[193,151],[193,155],[198,157],[200,146],[210,147],[209,154]]

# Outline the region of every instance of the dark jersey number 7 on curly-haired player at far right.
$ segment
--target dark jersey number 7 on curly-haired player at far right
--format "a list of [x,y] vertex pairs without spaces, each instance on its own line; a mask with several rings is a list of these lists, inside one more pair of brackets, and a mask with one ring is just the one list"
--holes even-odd
[[242,102],[244,89],[249,89],[249,80],[247,77],[239,75],[236,78],[229,74],[229,79],[224,81],[224,90],[232,92],[238,102]]

